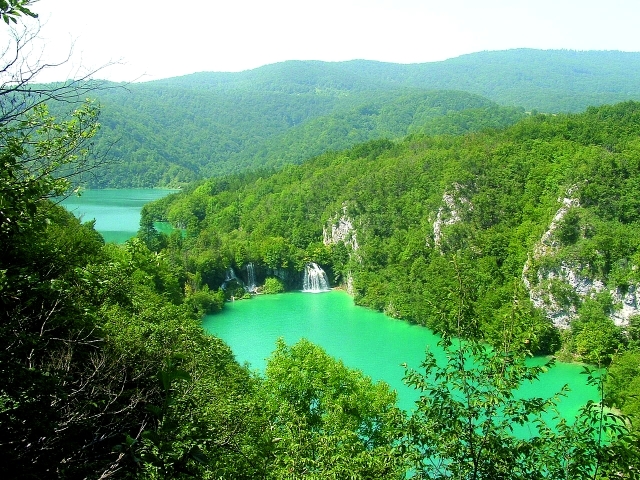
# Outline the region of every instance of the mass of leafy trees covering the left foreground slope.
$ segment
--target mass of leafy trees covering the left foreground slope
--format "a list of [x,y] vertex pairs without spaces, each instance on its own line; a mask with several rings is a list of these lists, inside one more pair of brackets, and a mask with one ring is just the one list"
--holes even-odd
[[186,275],[165,254],[140,239],[105,245],[48,200],[93,164],[96,113],[57,121],[40,106],[0,126],[3,472],[199,476],[206,460],[212,475],[253,478],[262,423],[239,414],[257,410],[253,382],[199,325],[220,295],[199,286],[185,301]]

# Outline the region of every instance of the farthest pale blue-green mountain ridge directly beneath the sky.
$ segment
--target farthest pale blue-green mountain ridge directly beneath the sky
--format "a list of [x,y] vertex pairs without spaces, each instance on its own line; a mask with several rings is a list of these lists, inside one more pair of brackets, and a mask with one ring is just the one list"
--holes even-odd
[[[629,95],[637,97],[638,74],[638,52],[522,48],[416,64],[291,60],[244,72],[200,72],[147,84],[288,93],[318,87],[339,91],[397,87],[461,90],[503,105],[557,113],[579,112],[594,105],[593,101],[617,103],[628,100]],[[564,98],[568,93],[577,98]]]

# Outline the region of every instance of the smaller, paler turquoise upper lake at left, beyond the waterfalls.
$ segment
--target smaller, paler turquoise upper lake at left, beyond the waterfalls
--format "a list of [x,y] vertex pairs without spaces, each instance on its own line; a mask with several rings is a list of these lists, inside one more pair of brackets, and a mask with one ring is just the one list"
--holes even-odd
[[96,221],[96,230],[106,242],[124,243],[140,228],[140,210],[145,203],[176,190],[161,188],[85,190],[62,205],[83,222]]

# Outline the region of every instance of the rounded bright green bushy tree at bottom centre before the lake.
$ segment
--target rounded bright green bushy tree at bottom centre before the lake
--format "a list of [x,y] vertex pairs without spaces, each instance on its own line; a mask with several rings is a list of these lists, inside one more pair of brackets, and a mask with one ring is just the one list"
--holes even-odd
[[395,393],[306,340],[278,342],[264,396],[274,442],[272,478],[398,478],[403,422]]

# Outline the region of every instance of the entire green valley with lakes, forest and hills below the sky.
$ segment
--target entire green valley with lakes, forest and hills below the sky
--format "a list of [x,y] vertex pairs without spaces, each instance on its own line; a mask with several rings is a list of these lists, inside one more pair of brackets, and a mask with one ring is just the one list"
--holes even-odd
[[[7,478],[633,478],[639,69],[515,49],[128,85],[19,71]],[[106,226],[83,191],[128,208]]]

